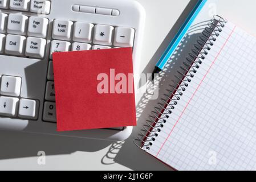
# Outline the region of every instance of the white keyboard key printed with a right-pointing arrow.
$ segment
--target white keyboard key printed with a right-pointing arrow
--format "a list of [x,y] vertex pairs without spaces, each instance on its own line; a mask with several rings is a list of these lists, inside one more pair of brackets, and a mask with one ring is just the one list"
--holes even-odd
[[38,106],[36,101],[22,98],[19,100],[19,118],[36,119],[38,117]]

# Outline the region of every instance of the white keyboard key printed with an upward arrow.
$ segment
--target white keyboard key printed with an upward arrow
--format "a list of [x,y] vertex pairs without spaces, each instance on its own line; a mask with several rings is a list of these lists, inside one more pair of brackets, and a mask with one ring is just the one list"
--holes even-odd
[[21,94],[21,77],[2,76],[0,94],[18,97]]

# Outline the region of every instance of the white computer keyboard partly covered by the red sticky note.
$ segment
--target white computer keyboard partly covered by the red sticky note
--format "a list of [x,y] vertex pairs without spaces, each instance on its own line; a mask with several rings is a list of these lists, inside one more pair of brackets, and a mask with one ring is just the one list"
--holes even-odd
[[56,132],[52,53],[133,47],[136,62],[144,18],[132,0],[0,0],[0,129],[129,137],[132,127]]

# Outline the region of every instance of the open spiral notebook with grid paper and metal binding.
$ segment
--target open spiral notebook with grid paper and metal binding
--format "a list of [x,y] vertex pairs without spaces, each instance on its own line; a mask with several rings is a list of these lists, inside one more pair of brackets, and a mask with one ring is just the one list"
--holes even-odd
[[220,16],[208,26],[136,144],[177,170],[255,170],[256,39]]

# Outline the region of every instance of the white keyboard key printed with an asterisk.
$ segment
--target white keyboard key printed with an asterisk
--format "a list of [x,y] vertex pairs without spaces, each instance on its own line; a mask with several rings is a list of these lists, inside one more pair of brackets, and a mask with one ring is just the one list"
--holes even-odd
[[97,24],[94,32],[94,44],[111,46],[113,30],[112,26]]

